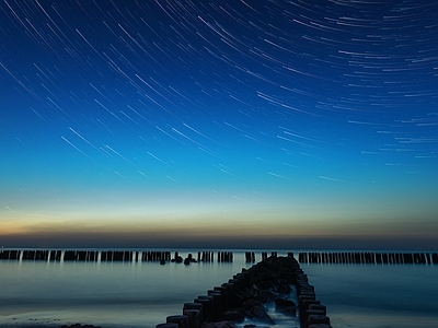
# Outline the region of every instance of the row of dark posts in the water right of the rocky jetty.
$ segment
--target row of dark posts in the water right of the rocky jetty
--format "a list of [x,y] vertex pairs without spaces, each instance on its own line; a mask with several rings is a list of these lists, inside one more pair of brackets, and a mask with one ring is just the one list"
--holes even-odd
[[438,265],[437,253],[299,253],[301,263]]

